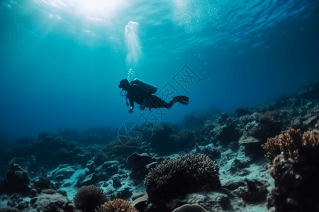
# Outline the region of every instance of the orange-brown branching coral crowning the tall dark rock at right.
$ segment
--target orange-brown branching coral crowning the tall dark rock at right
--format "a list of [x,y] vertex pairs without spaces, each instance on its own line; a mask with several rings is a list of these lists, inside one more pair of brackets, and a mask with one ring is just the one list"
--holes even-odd
[[300,129],[289,129],[268,139],[262,148],[267,152],[265,157],[273,160],[281,152],[286,158],[298,157],[314,146],[319,146],[318,131],[306,131],[302,134]]

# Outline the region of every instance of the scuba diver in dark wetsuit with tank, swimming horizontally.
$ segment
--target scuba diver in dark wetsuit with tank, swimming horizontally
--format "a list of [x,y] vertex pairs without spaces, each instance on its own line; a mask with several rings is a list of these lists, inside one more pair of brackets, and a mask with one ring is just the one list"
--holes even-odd
[[[184,95],[175,96],[170,102],[167,103],[154,95],[154,93],[157,91],[155,86],[151,86],[150,84],[140,81],[137,78],[130,83],[127,79],[121,80],[118,88],[122,88],[121,96],[126,97],[126,105],[130,106],[130,110],[128,110],[130,113],[133,112],[134,102],[140,105],[140,110],[144,110],[145,107],[148,107],[149,110],[151,110],[151,108],[159,107],[171,108],[175,102],[179,102],[183,105],[189,104],[189,98]],[[122,94],[123,90],[125,90],[124,95]],[[128,100],[130,105],[128,105]]]

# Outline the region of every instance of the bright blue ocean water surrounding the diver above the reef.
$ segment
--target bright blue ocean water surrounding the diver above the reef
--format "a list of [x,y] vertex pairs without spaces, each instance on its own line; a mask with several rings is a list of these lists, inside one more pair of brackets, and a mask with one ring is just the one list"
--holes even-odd
[[189,96],[189,105],[163,110],[156,122],[296,93],[319,79],[318,6],[315,0],[1,1],[1,138],[150,120],[155,114],[138,107],[128,113],[118,88],[123,78],[157,86],[162,98]]

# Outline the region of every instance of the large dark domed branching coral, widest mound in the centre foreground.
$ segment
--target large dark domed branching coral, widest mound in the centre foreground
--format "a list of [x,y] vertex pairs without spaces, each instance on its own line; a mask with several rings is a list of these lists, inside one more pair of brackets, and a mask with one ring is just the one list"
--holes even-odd
[[164,160],[145,177],[150,201],[220,187],[219,167],[205,154],[187,154]]

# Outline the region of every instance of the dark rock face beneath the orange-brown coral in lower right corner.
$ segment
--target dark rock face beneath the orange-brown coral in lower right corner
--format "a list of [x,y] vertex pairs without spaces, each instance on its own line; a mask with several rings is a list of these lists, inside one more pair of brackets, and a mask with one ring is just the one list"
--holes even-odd
[[272,201],[276,211],[319,211],[318,161],[278,155],[270,173],[275,179]]

